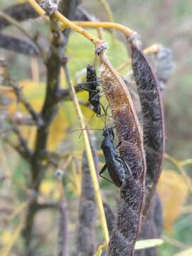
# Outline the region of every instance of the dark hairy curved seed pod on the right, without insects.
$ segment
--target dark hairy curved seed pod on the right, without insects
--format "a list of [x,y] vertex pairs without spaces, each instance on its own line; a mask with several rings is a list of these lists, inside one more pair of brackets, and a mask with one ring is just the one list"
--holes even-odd
[[143,51],[134,41],[132,48],[132,68],[142,106],[144,149],[146,153],[146,203],[147,214],[151,198],[161,174],[164,154],[164,110],[157,80]]

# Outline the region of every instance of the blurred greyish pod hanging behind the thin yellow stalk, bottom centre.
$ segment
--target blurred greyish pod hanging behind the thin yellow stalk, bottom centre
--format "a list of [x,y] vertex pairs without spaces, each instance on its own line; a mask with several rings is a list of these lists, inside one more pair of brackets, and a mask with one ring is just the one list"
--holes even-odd
[[[95,136],[87,131],[92,149],[95,169],[99,172],[99,159],[95,147]],[[97,220],[95,193],[92,186],[90,169],[85,151],[82,154],[82,185],[79,205],[78,228],[73,255],[94,255],[95,252],[95,222]]]

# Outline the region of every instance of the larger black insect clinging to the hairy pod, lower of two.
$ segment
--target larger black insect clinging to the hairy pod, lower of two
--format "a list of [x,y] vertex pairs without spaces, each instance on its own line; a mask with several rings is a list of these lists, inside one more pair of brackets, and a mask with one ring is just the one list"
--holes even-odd
[[[132,171],[129,166],[125,163],[121,156],[117,152],[117,147],[114,146],[114,132],[112,127],[107,127],[103,129],[102,135],[105,137],[101,144],[101,149],[105,156],[105,166],[102,167],[100,171],[100,176],[102,176],[104,171],[108,169],[112,181],[105,178],[107,181],[114,183],[115,186],[120,188],[124,186],[124,176],[126,170],[129,171],[129,174],[132,176]],[[134,177],[132,176],[133,180]],[[134,180],[135,181],[135,180]],[[136,181],[135,181],[136,183]]]

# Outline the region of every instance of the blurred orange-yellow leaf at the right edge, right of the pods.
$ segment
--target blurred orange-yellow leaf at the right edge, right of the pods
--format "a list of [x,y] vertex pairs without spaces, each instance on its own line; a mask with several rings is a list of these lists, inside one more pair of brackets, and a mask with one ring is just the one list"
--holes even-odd
[[188,196],[188,187],[181,174],[166,170],[161,174],[158,191],[163,206],[164,225],[171,232],[171,225],[181,214],[181,208]]

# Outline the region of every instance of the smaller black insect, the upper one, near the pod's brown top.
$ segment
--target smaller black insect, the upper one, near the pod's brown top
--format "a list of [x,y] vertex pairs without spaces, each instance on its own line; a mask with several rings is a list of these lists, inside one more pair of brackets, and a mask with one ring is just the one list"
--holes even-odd
[[[92,65],[87,65],[87,75],[86,75],[86,83],[82,83],[79,85],[82,90],[86,90],[89,92],[89,102],[93,107],[93,111],[100,116],[101,114],[101,106],[100,103],[100,82],[97,80],[97,74],[95,68]],[[102,106],[104,110],[104,107]],[[104,110],[105,112],[105,110]]]

